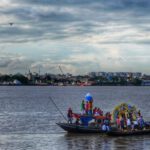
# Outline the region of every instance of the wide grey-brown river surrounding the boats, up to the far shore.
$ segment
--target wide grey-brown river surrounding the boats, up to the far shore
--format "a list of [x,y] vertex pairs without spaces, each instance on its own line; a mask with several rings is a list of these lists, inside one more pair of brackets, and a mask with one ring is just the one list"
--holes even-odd
[[66,115],[80,111],[86,93],[104,112],[127,102],[150,120],[150,87],[0,87],[0,150],[149,150],[150,135],[108,137],[67,134],[55,123],[64,121],[49,99]]

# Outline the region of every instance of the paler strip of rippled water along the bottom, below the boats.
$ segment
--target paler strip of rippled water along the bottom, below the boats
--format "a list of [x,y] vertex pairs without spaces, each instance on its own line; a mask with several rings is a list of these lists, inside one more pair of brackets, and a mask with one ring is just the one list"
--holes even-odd
[[0,149],[16,150],[149,150],[150,135],[108,137],[98,134],[9,134],[0,136]]

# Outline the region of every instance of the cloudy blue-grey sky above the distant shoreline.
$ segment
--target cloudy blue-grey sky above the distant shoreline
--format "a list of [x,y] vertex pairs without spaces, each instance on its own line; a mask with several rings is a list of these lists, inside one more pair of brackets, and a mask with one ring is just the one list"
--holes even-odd
[[150,74],[149,65],[149,0],[0,0],[1,73]]

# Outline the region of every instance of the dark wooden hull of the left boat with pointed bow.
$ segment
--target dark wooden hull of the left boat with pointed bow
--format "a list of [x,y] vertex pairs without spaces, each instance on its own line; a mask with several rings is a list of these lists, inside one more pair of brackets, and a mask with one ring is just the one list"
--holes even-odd
[[83,125],[76,125],[76,124],[69,124],[69,123],[56,123],[62,129],[67,132],[72,133],[104,133],[99,127],[95,126],[83,126]]

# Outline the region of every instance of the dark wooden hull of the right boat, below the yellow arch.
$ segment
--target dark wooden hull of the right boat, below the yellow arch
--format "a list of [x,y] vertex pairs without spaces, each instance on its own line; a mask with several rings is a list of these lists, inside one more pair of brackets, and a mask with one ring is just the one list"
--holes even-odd
[[109,131],[107,135],[109,136],[131,136],[131,135],[146,135],[150,134],[150,129],[143,129],[143,130],[134,130],[134,131]]

